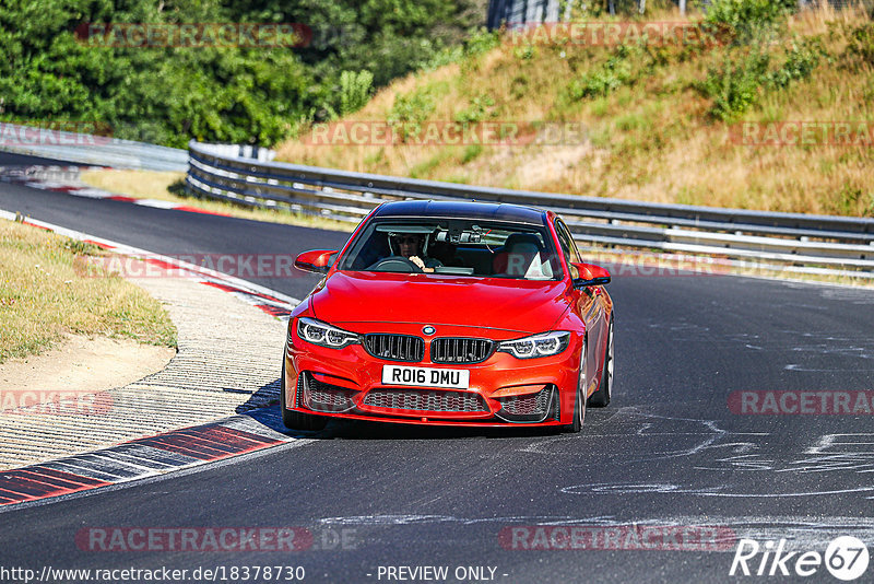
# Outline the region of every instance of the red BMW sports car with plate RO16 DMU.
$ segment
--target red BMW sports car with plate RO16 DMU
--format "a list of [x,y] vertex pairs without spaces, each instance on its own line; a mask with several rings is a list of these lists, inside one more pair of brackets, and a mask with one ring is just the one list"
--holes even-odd
[[399,201],[345,247],[292,313],[282,419],[540,425],[578,432],[613,386],[610,275],[583,264],[551,211]]

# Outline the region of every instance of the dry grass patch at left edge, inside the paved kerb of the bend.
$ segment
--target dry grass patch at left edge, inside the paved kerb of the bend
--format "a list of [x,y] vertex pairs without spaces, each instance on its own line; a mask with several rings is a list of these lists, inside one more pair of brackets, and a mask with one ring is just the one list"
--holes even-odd
[[176,347],[161,304],[115,276],[83,270],[92,245],[0,220],[0,363],[51,348],[67,334]]

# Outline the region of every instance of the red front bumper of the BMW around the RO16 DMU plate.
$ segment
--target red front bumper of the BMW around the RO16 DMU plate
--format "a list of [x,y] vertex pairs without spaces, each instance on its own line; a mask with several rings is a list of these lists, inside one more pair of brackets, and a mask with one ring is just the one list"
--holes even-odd
[[[449,365],[427,357],[417,363],[382,360],[361,344],[323,348],[291,332],[285,348],[287,409],[437,425],[560,425],[572,420],[581,350],[577,339],[554,357],[524,360],[495,352],[481,363]],[[463,369],[470,383],[466,389],[385,385],[383,365]]]

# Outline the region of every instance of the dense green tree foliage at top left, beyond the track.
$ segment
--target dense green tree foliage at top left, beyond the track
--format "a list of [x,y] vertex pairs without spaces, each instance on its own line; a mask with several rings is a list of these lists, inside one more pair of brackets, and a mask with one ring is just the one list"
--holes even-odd
[[[272,144],[459,45],[483,0],[3,0],[0,119],[184,147]],[[88,23],[298,23],[298,47],[101,46]],[[342,78],[343,71],[346,73]]]

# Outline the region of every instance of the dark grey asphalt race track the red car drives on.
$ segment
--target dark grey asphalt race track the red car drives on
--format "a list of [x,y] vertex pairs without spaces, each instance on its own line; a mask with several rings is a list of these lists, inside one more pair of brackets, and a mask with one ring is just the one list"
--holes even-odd
[[[0,166],[28,162],[0,156]],[[294,254],[346,238],[2,183],[0,208],[169,255]],[[314,280],[255,281],[303,297]],[[387,567],[442,565],[448,582],[459,581],[459,567],[495,568],[498,582],[714,582],[733,580],[737,537],[823,552],[854,535],[874,552],[872,417],[742,416],[728,406],[740,390],[874,390],[874,293],[694,275],[617,276],[609,289],[614,401],[590,409],[581,434],[332,423],[311,442],[0,511],[0,567],[295,565],[308,582],[388,582],[398,580]],[[544,524],[721,526],[733,535],[722,551],[666,549],[670,541],[525,550],[499,537]],[[315,539],[295,552],[76,546],[80,529],[109,526],[299,526]],[[872,574],[874,565],[860,582]],[[770,580],[836,582],[824,567]]]

